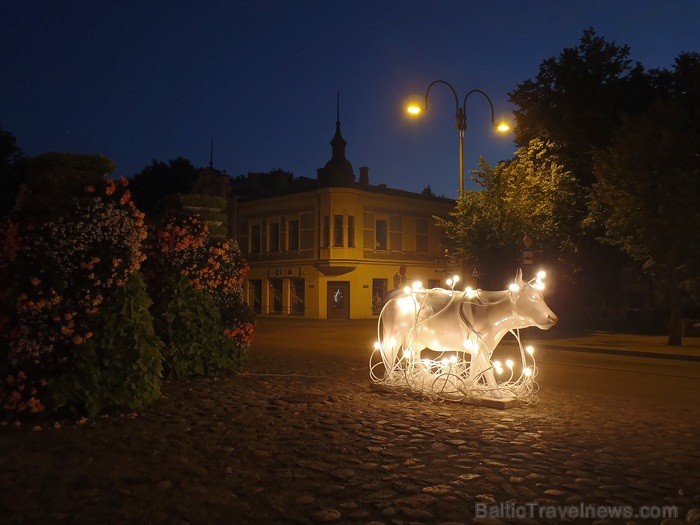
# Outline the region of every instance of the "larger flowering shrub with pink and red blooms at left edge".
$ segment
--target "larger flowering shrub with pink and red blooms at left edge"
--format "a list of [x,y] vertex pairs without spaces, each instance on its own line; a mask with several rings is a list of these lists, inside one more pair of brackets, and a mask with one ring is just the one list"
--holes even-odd
[[[81,195],[65,204],[62,215],[47,222],[26,221],[16,229],[5,228],[0,268],[8,274],[3,280],[2,295],[9,299],[9,308],[0,323],[0,339],[4,341],[0,370],[0,405],[15,413],[40,412],[48,404],[54,407],[67,404],[70,408],[99,411],[113,406],[109,400],[125,400],[128,396],[115,392],[95,392],[94,389],[131,388],[127,378],[134,367],[150,367],[145,373],[160,374],[152,357],[159,358],[159,345],[149,342],[141,348],[134,361],[124,356],[132,348],[103,347],[103,339],[110,340],[103,304],[130,301],[122,288],[133,280],[145,256],[142,243],[147,231],[144,216],[131,201],[128,182],[121,179],[102,181],[85,187]],[[136,278],[138,281],[138,278]],[[138,294],[138,283],[132,292]],[[146,309],[132,308],[129,315],[140,330],[148,330],[148,297],[139,296]],[[101,342],[95,341],[99,329]],[[138,342],[132,341],[134,344]],[[89,347],[89,348],[88,348]],[[95,358],[85,360],[85,355]],[[107,356],[102,352],[122,352]],[[6,358],[5,358],[6,357]],[[158,360],[156,360],[158,361]],[[109,363],[109,364],[108,364]],[[122,373],[123,384],[113,381],[104,384],[90,380],[102,369],[120,363],[115,373]],[[92,367],[92,369],[90,369]],[[158,394],[159,383],[150,377],[150,393],[141,393],[145,399]],[[62,395],[51,398],[52,386],[60,384]],[[71,392],[72,385],[74,391]],[[85,399],[77,392],[87,389]],[[102,399],[96,402],[96,399]],[[132,399],[132,401],[134,401]],[[137,404],[141,400],[136,400]]]

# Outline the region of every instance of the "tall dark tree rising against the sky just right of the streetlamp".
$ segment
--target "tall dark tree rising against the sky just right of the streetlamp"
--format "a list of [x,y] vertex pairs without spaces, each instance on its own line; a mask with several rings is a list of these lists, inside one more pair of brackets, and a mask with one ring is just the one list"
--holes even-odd
[[515,141],[552,140],[560,160],[584,186],[593,182],[593,154],[607,147],[624,114],[644,110],[654,87],[644,68],[633,64],[628,46],[596,36],[590,28],[580,44],[540,65],[534,80],[510,93]]

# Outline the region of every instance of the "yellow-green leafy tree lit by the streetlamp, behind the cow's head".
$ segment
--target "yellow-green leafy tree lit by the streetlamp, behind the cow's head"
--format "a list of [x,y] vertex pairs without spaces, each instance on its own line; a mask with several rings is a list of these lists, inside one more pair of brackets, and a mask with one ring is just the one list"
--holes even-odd
[[532,140],[510,162],[483,159],[472,181],[482,191],[464,192],[453,220],[440,220],[461,256],[494,286],[512,275],[527,234],[550,261],[574,267],[583,219],[583,191],[558,161],[551,142]]

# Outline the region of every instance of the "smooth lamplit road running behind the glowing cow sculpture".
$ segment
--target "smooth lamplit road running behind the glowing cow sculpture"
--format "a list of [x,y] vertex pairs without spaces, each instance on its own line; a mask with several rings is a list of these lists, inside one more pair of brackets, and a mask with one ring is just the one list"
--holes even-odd
[[[528,336],[537,348],[537,382],[541,392],[561,390],[596,399],[629,398],[660,409],[681,409],[700,415],[700,362],[567,350],[546,340],[544,346],[538,347],[537,331],[533,330]],[[291,353],[303,350],[329,358],[348,358],[362,366],[369,363],[376,331],[377,324],[372,319],[262,318],[253,351],[256,346],[266,350],[281,347]],[[499,358],[505,359],[513,348],[513,341],[504,339],[497,349]]]

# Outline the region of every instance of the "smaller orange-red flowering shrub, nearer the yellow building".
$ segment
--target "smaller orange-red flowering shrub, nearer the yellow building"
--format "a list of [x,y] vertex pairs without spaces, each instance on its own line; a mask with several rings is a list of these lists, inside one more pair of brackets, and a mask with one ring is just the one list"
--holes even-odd
[[[229,340],[225,346],[235,354],[233,357],[235,357],[235,363],[238,363],[248,348],[253,334],[252,312],[243,301],[242,292],[248,265],[242,258],[238,245],[233,241],[212,242],[206,222],[197,217],[171,218],[154,231],[149,239],[146,275],[151,282],[150,288],[156,303],[156,311],[169,311],[172,306],[168,304],[169,301],[183,295],[189,295],[190,300],[194,301],[198,308],[204,308],[207,300],[203,299],[201,294],[210,296],[209,308],[218,310],[216,312],[219,320],[218,332]],[[187,279],[191,290],[179,283],[180,276]],[[186,307],[185,303],[182,303],[182,307]],[[170,318],[174,319],[172,312]],[[169,332],[174,329],[172,326],[166,329],[159,322],[156,326],[160,326],[158,333],[166,346],[169,341],[176,344],[176,339],[172,338]],[[203,329],[203,326],[199,329]],[[218,340],[219,333],[212,334],[208,330],[206,337],[216,337]],[[204,348],[203,352],[215,352],[214,349],[220,346],[220,342],[211,341],[209,348]],[[168,364],[167,356],[174,359],[175,355],[180,354],[173,349],[166,350],[164,353],[165,370],[168,373],[168,370],[175,370],[175,368]],[[233,370],[231,366],[234,361],[231,361],[230,357],[232,356],[220,355],[217,358],[219,367],[224,370]],[[199,370],[201,367],[196,368]],[[214,363],[210,363],[204,373],[215,373],[216,368]],[[181,377],[180,373],[171,375]]]

